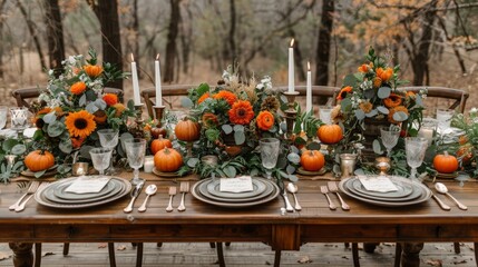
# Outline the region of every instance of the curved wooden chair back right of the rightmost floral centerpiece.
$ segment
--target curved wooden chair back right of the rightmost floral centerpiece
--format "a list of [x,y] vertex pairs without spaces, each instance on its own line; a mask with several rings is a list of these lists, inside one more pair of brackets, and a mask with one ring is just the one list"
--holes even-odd
[[[435,106],[446,105],[448,109],[457,109],[459,112],[465,111],[469,93],[462,89],[446,88],[446,87],[400,87],[399,90],[418,92],[422,89],[427,89],[427,99],[436,98],[438,100],[445,100],[433,103]],[[435,111],[432,111],[435,113]]]

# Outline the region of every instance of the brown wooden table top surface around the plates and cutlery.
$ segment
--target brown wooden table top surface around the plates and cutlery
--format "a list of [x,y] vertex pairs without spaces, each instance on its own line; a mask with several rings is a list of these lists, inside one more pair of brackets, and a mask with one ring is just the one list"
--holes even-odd
[[[131,177],[130,172],[123,172],[120,177]],[[350,225],[350,224],[478,224],[478,184],[475,180],[466,181],[464,186],[455,180],[441,180],[450,192],[466,206],[468,210],[460,210],[446,196],[438,195],[447,202],[450,211],[440,209],[438,204],[430,199],[426,202],[406,207],[379,207],[360,200],[352,199],[344,194],[342,198],[350,205],[350,211],[340,209],[336,196],[331,195],[332,201],[338,206],[336,210],[330,210],[325,197],[320,192],[320,186],[325,185],[330,176],[300,177],[297,198],[302,205],[300,212],[286,212],[281,215],[284,207],[282,197],[254,207],[233,209],[222,208],[195,199],[191,194],[186,195],[186,211],[177,211],[181,194],[174,198],[175,210],[166,212],[168,202],[167,188],[176,186],[179,189],[181,180],[197,181],[196,176],[185,178],[159,178],[153,174],[142,174],[147,184],[156,184],[158,191],[150,198],[146,212],[137,209],[146,197],[143,192],[135,202],[134,211],[125,214],[129,196],[119,200],[82,209],[56,209],[38,205],[31,199],[21,212],[10,211],[8,207],[13,204],[25,190],[20,190],[17,182],[0,185],[0,225],[1,224],[314,224],[314,225]],[[33,178],[35,179],[35,178]],[[146,186],[145,186],[146,187]],[[145,188],[144,187],[144,188]],[[289,196],[293,201],[292,195]]]

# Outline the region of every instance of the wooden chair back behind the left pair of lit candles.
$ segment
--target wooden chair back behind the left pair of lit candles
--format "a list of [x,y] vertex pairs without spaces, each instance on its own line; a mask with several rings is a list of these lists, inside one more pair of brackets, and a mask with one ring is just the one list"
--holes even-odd
[[[162,87],[162,96],[163,103],[167,106],[169,109],[173,109],[173,106],[177,103],[181,97],[187,96],[187,91],[191,88],[195,88],[196,86],[192,85],[169,85]],[[149,118],[154,118],[153,106],[156,103],[156,89],[147,88],[142,91],[143,100],[146,103],[146,110],[148,111]]]

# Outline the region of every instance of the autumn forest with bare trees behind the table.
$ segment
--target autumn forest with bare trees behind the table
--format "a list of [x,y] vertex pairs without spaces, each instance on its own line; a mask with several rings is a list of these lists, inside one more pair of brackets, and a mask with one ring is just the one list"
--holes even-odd
[[[0,103],[17,88],[45,87],[46,70],[91,47],[104,61],[154,86],[215,83],[228,65],[244,77],[287,82],[295,39],[296,85],[340,87],[370,46],[400,65],[410,86],[460,88],[478,100],[477,0],[0,0]],[[124,88],[130,96],[131,82]]]

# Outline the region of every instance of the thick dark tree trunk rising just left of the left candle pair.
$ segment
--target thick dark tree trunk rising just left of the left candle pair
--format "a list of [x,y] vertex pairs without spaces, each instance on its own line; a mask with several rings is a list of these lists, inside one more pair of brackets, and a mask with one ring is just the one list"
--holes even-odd
[[[121,37],[119,34],[119,17],[117,1],[87,0],[101,27],[103,61],[115,65],[123,70]],[[117,80],[107,85],[123,89],[123,80]]]

